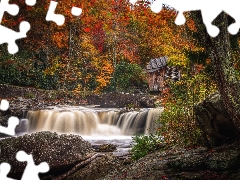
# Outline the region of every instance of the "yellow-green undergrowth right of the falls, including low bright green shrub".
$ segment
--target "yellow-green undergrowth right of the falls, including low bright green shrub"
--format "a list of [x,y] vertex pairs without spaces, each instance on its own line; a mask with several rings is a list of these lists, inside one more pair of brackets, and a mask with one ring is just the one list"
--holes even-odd
[[[205,73],[185,76],[180,81],[169,81],[170,88],[159,98],[160,106],[164,107],[160,115],[155,135],[142,135],[133,138],[135,145],[131,153],[137,160],[155,150],[159,144],[166,147],[195,147],[202,144],[202,131],[196,124],[194,106],[216,91],[215,83]],[[164,137],[164,138],[162,138]]]

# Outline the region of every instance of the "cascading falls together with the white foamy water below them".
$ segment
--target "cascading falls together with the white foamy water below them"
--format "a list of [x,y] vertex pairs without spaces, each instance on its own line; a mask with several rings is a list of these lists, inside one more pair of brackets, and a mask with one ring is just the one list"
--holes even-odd
[[92,145],[113,144],[115,156],[129,155],[132,136],[149,135],[161,125],[163,108],[145,108],[126,112],[123,109],[94,107],[48,107],[24,112],[17,136],[39,131],[78,134]]

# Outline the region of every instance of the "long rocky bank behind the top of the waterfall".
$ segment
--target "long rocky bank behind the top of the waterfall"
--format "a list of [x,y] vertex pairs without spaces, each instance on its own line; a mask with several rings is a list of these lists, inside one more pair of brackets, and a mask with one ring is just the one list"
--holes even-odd
[[10,109],[44,109],[46,106],[69,105],[100,107],[154,107],[157,96],[136,91],[134,93],[73,92],[43,90],[32,87],[0,84],[0,98],[10,101]]

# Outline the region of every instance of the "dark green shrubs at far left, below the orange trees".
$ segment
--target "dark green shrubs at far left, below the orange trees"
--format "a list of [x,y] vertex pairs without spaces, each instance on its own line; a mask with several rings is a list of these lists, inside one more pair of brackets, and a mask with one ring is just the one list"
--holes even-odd
[[0,48],[0,83],[18,86],[33,86],[42,89],[58,87],[57,74],[44,73],[46,60],[32,58],[31,53],[20,51],[10,55],[5,48]]

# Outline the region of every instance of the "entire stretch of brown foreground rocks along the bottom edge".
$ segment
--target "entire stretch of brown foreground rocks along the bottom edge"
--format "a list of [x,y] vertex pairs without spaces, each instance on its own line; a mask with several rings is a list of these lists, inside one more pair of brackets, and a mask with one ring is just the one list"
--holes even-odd
[[[240,179],[240,141],[216,148],[183,149],[171,147],[149,154],[138,161],[119,159],[113,145],[95,147],[77,135],[39,132],[0,141],[0,162],[12,166],[9,177],[19,179],[26,166],[15,154],[24,150],[36,164],[47,162],[50,170],[40,174],[44,180],[75,179]],[[106,152],[107,151],[107,152]]]

